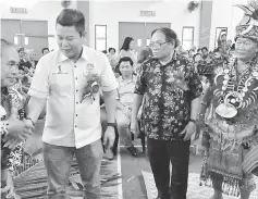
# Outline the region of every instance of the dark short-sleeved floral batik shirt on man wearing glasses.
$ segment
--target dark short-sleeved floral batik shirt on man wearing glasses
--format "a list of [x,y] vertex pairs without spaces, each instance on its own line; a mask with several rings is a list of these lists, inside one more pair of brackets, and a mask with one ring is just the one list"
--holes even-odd
[[202,92],[194,64],[174,53],[162,65],[149,59],[140,66],[135,94],[145,95],[143,130],[149,138],[182,140],[179,136],[191,116],[191,102]]

